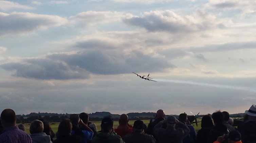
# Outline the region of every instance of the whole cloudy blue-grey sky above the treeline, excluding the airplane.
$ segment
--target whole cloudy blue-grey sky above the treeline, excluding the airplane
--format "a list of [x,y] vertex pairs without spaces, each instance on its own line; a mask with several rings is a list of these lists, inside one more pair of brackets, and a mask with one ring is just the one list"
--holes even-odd
[[251,0],[0,0],[0,110],[243,113],[255,18]]

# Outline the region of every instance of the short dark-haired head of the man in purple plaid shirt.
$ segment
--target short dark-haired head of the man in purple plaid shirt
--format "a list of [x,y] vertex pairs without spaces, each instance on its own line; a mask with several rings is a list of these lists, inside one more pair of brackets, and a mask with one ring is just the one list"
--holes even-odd
[[16,125],[16,114],[12,109],[4,109],[1,113],[1,119],[3,127]]

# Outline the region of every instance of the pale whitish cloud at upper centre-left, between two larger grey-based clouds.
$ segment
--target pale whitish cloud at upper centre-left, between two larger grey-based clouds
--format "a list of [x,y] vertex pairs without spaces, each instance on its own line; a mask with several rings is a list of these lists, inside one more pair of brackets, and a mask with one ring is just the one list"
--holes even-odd
[[[127,14],[129,15],[129,14]],[[70,23],[73,25],[96,25],[109,22],[121,21],[125,18],[123,12],[116,11],[86,11],[71,16]]]

